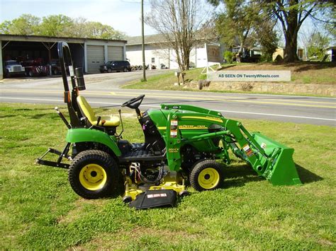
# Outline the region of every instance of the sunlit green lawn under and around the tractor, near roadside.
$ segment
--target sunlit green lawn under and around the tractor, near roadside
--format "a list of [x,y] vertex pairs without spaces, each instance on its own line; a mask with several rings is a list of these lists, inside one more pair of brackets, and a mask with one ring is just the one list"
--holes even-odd
[[[135,117],[123,121],[124,139],[142,141]],[[223,189],[135,211],[121,197],[82,199],[66,170],[34,165],[47,147],[65,144],[52,106],[1,103],[0,249],[335,250],[335,128],[240,121],[295,148],[304,184],[273,187],[235,161]]]

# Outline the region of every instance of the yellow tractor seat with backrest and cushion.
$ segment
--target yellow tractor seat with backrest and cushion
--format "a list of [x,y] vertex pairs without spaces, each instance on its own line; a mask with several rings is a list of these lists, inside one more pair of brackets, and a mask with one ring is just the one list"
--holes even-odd
[[[94,114],[94,110],[92,110],[89,103],[87,103],[86,99],[79,95],[77,97],[77,103],[79,105],[82,114],[89,120],[92,125],[97,125],[98,117]],[[103,123],[105,121],[105,123]],[[121,124],[121,119],[117,116],[103,116],[101,117],[101,121],[99,122],[99,126],[101,127],[118,127]]]

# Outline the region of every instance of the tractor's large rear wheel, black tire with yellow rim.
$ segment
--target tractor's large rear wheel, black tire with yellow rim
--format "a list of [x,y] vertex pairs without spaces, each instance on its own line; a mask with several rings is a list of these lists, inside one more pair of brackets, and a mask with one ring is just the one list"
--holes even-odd
[[103,151],[79,153],[69,168],[69,182],[85,199],[111,197],[118,191],[120,173],[113,158]]

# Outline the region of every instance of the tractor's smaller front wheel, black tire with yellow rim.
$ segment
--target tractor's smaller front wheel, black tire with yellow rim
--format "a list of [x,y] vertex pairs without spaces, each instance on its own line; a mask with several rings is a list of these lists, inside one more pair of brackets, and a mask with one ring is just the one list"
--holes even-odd
[[190,183],[197,191],[213,190],[223,185],[222,166],[215,160],[196,163],[190,173]]

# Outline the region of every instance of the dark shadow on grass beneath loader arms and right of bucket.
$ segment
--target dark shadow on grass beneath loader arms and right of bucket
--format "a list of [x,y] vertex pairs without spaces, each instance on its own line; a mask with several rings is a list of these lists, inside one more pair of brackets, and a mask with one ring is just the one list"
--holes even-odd
[[[323,180],[323,177],[310,172],[301,165],[296,164],[298,177],[303,184]],[[247,164],[233,164],[223,168],[225,177],[224,187],[242,187],[249,182],[259,182],[265,180],[264,177],[258,176],[257,173]]]

